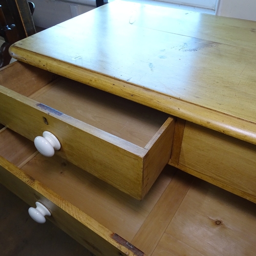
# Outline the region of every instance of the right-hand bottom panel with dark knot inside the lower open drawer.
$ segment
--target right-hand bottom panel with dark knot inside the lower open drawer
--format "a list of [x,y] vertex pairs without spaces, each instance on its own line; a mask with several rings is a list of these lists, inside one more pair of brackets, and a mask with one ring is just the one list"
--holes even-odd
[[196,180],[153,255],[253,255],[255,210],[252,202]]

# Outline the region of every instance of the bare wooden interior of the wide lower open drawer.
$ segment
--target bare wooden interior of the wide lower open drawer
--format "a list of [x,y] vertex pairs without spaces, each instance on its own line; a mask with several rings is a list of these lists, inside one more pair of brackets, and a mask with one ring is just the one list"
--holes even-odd
[[58,201],[49,189],[146,255],[252,255],[256,249],[256,204],[176,168],[167,166],[139,202],[59,156],[38,155],[31,141],[8,129],[0,141],[0,155],[42,183],[50,200]]

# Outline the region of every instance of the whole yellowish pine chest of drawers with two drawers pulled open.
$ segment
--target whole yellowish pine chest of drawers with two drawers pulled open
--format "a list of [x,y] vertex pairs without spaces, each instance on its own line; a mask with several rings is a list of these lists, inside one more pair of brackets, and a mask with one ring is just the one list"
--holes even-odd
[[96,255],[254,255],[255,29],[115,1],[17,42],[1,182]]

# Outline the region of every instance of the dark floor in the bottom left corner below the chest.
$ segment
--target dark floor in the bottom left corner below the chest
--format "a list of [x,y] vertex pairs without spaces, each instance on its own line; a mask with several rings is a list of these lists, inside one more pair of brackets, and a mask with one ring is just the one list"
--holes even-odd
[[49,220],[33,221],[28,208],[0,184],[1,256],[94,256]]

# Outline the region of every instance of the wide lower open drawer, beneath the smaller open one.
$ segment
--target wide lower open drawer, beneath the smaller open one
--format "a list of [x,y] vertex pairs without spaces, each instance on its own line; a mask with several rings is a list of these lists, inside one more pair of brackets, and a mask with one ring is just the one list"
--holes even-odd
[[95,255],[254,255],[256,204],[175,167],[138,201],[9,129],[0,141],[0,182]]

